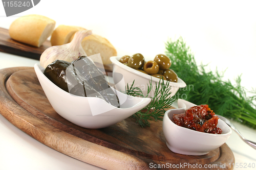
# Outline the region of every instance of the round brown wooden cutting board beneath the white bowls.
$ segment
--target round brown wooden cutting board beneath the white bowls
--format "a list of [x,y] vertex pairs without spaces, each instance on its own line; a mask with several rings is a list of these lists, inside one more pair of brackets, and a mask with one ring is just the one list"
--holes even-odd
[[1,114],[39,142],[83,162],[105,169],[231,169],[234,163],[226,143],[203,156],[173,153],[161,121],[146,128],[132,117],[102,129],[76,126],[54,111],[33,67],[2,69],[0,79]]

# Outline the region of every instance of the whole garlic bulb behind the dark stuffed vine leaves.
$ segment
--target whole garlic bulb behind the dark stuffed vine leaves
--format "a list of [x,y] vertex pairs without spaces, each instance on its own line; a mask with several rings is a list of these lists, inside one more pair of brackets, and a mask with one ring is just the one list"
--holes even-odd
[[47,48],[40,56],[40,65],[46,68],[47,65],[55,60],[71,62],[76,60],[79,56],[87,56],[81,46],[81,41],[84,37],[91,34],[91,30],[78,31],[70,43]]

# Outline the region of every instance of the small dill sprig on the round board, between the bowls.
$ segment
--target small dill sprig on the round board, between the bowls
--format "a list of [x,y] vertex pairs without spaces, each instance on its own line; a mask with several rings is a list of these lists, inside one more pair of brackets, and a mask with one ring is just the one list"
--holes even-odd
[[[129,87],[129,85],[127,84],[126,94],[132,96],[140,96],[142,98],[147,98],[148,94],[153,88],[151,80],[149,81],[149,84],[147,84],[147,94],[144,95],[140,88],[134,87],[133,85],[134,81],[131,87]],[[164,84],[163,79],[159,79],[159,83],[156,83],[154,96],[149,97],[151,98],[151,103],[137,113],[133,114],[133,117],[137,120],[137,123],[141,127],[150,127],[151,123],[149,122],[149,120],[163,120],[165,110],[170,108],[174,102],[174,99],[169,95],[170,93],[172,93],[171,88],[172,87],[169,86],[169,82]]]

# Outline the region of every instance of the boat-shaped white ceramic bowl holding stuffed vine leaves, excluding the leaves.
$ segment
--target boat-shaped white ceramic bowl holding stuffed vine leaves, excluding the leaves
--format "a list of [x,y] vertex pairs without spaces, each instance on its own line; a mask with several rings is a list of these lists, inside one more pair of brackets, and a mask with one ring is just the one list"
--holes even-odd
[[52,83],[44,75],[45,69],[39,64],[35,64],[34,69],[53,109],[63,118],[84,128],[98,129],[114,125],[144,108],[151,101],[114,90],[120,102],[120,108],[117,108],[99,98],[70,94]]

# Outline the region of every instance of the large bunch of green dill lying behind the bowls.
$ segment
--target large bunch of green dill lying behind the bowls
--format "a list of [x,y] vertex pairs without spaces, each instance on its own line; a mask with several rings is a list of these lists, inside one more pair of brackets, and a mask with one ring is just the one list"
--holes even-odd
[[[224,72],[206,71],[207,65],[197,65],[194,55],[182,37],[166,43],[166,55],[172,60],[172,69],[187,84],[176,93],[176,99],[186,96],[187,101],[197,105],[207,104],[216,114],[236,120],[256,129],[256,90],[246,96],[241,86],[241,75],[233,85],[230,80],[223,81]],[[185,94],[185,95],[182,95]]]

